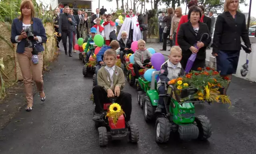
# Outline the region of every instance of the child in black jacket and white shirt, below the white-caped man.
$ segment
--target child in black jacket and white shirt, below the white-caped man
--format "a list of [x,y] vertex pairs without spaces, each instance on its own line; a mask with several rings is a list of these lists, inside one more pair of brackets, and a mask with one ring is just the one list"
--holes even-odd
[[120,45],[120,60],[121,63],[124,63],[124,55],[133,53],[131,49],[132,41],[127,38],[127,32],[122,31],[122,38],[118,41]]

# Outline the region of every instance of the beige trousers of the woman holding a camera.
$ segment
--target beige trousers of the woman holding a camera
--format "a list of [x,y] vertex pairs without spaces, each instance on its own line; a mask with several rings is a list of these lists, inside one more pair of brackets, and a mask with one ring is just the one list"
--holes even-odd
[[28,104],[33,104],[33,91],[32,91],[32,80],[35,81],[37,90],[43,91],[43,76],[42,76],[42,53],[38,53],[38,63],[34,64],[31,61],[32,48],[25,48],[24,53],[17,53],[18,63],[23,77],[24,89]]

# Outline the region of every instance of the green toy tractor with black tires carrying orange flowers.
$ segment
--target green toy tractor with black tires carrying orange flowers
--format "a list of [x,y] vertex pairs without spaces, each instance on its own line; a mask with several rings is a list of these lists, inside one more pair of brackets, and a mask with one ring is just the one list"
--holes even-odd
[[[138,91],[138,103],[143,108],[146,122],[156,119],[155,140],[157,143],[166,143],[169,140],[170,132],[178,132],[180,139],[206,140],[212,135],[210,120],[204,115],[195,115],[194,103],[200,103],[193,99],[180,101],[189,98],[197,92],[197,89],[182,89],[162,84],[166,87],[166,93],[159,95],[156,90],[155,76],[159,71],[152,73],[152,81],[139,78],[142,91]],[[166,112],[155,113],[159,97],[164,97]]]

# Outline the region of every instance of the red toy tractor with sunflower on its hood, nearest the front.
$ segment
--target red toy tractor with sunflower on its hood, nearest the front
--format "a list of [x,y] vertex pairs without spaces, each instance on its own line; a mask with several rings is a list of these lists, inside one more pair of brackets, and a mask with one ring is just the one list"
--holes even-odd
[[[112,103],[115,103],[116,97],[110,98]],[[108,111],[112,103],[104,103],[104,111]],[[136,124],[128,124],[124,121],[124,115],[118,118],[116,124],[107,117],[103,117],[100,121],[95,121],[95,126],[98,128],[99,145],[106,146],[108,140],[121,140],[129,137],[129,141],[136,143],[139,140],[139,130]]]

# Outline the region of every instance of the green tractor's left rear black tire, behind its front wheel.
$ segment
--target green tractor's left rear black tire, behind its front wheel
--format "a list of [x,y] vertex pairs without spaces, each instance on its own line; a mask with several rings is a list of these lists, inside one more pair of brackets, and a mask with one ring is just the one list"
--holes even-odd
[[155,113],[155,107],[152,106],[150,98],[148,96],[145,97],[145,103],[143,104],[143,113],[146,122],[150,122]]

